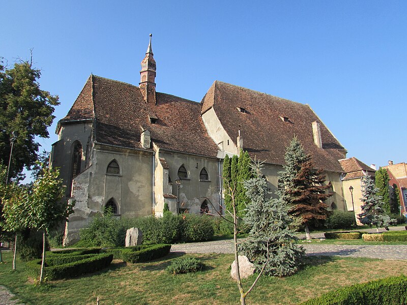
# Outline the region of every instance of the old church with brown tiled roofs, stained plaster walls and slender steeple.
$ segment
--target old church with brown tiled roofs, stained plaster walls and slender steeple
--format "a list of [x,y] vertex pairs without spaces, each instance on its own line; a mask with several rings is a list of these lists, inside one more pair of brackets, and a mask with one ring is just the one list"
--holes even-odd
[[346,149],[309,105],[214,81],[201,102],[156,92],[151,45],[138,85],[91,75],[59,121],[51,164],[75,200],[67,242],[110,206],[115,215],[223,212],[222,164],[248,151],[265,161],[271,196],[285,147],[296,135],[315,168],[323,168],[332,209],[346,210],[339,160]]

